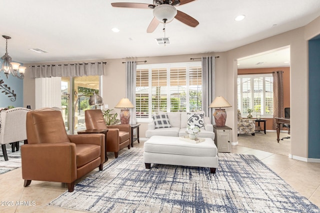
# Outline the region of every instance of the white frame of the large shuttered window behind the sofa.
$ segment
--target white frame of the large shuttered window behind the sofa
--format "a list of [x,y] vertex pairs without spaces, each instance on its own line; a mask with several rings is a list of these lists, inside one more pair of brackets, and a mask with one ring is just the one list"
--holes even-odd
[[[201,67],[201,61],[192,61],[192,62],[178,62],[178,63],[156,63],[156,64],[137,64],[136,70],[148,69],[148,100],[152,100],[152,69],[166,69],[166,87],[170,87],[170,69],[185,67],[186,69],[186,89],[189,91],[189,68],[190,67]],[[202,69],[202,67],[201,67]],[[202,76],[201,76],[202,79]],[[202,83],[201,83],[202,84]],[[136,91],[137,85],[135,87]],[[166,110],[165,112],[170,112],[170,89],[166,89]],[[202,91],[202,87],[201,87]],[[189,92],[186,92],[186,111],[189,111]],[[136,98],[136,93],[135,93]],[[201,110],[201,109],[200,109]],[[137,122],[140,123],[149,123],[152,121],[152,101],[148,101],[148,117],[146,118],[136,118]]]

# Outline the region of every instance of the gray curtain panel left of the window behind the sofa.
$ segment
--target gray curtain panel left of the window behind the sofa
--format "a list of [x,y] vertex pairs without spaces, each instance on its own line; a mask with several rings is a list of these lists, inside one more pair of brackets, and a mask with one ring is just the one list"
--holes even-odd
[[[127,97],[135,107],[135,76],[136,63],[135,61],[125,62],[125,97]],[[135,108],[130,109],[130,124],[136,124]]]

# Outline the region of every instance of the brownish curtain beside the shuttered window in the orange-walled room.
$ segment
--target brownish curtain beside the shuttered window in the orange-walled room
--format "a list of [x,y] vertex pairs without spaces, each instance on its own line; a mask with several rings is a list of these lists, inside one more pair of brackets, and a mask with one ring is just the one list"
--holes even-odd
[[[283,118],[283,71],[275,71],[273,77],[273,118]],[[276,120],[273,119],[272,129],[276,129]],[[280,125],[282,129],[282,125]]]

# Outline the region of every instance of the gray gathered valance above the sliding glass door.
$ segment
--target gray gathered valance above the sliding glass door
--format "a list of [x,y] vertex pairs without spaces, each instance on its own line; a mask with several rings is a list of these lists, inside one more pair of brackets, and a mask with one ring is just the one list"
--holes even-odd
[[103,63],[105,62],[31,65],[30,78],[103,75]]

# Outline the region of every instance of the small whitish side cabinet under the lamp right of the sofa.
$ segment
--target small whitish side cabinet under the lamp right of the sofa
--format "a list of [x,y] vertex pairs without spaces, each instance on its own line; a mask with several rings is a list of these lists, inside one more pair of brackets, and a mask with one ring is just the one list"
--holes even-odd
[[215,134],[214,143],[215,146],[218,148],[218,152],[231,152],[231,130],[232,129],[227,126],[213,126],[213,132]]

